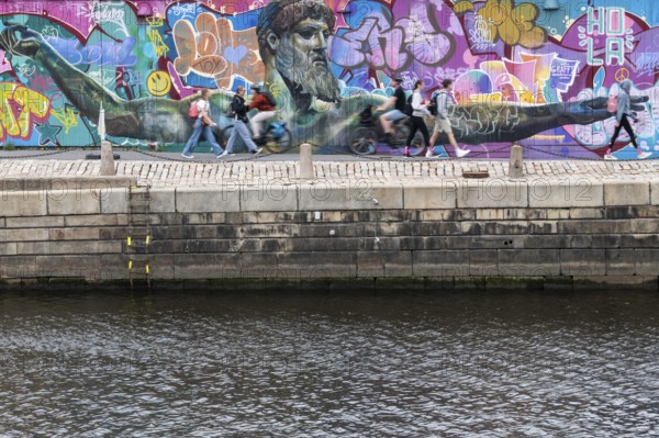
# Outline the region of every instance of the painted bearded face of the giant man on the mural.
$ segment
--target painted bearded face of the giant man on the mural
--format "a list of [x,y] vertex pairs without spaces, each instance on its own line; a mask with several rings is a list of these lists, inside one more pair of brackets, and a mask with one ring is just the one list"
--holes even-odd
[[292,83],[294,92],[336,102],[338,80],[330,69],[328,37],[330,30],[323,20],[302,20],[281,36],[275,63],[280,75]]

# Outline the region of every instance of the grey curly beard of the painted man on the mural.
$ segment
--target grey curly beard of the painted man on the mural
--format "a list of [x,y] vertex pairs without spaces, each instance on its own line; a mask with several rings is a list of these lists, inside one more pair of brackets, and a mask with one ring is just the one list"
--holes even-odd
[[[294,60],[292,45],[281,44],[275,64],[279,74],[293,85],[294,92],[308,93],[326,102],[338,102],[338,79],[330,71],[326,56],[317,55],[309,67]],[[319,65],[315,65],[316,61]]]

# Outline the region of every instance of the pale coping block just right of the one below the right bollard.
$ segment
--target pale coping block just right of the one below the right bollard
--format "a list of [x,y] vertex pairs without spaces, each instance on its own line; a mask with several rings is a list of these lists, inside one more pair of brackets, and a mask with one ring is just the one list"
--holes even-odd
[[568,177],[561,180],[534,178],[528,181],[528,206],[532,209],[583,209],[603,205],[604,186],[592,178]]

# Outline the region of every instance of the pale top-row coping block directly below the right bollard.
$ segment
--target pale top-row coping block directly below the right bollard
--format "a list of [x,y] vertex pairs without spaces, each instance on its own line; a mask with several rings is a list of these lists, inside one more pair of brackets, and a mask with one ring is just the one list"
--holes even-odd
[[458,183],[458,209],[511,209],[528,206],[526,182],[509,179],[463,179]]

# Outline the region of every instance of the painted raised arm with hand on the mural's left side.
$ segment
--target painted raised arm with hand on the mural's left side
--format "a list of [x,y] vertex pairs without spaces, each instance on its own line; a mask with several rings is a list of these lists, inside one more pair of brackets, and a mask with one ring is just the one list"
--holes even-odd
[[[66,98],[82,115],[98,123],[101,103],[105,110],[105,128],[110,135],[141,138],[148,126],[143,126],[145,111],[176,114],[179,102],[167,99],[136,99],[125,101],[102,87],[83,71],[68,63],[43,36],[24,25],[14,24],[0,33],[0,48],[13,56],[26,56],[48,71]],[[148,117],[147,117],[148,119]]]

